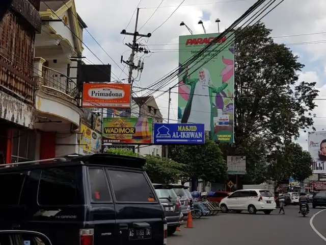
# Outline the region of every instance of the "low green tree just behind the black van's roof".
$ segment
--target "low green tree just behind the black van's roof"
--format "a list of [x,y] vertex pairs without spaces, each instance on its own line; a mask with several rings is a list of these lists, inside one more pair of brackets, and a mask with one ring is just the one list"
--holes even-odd
[[[120,149],[110,149],[107,153],[133,157],[138,156],[137,153],[123,151]],[[153,183],[175,184],[187,176],[184,171],[186,165],[182,163],[178,163],[167,158],[161,158],[159,156],[146,155],[140,157],[145,158],[146,173]]]

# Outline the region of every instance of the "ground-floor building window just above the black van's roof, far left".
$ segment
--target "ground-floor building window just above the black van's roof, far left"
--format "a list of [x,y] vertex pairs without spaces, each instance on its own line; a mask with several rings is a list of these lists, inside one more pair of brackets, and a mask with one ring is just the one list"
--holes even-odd
[[11,162],[35,159],[36,133],[33,130],[14,130],[12,136]]

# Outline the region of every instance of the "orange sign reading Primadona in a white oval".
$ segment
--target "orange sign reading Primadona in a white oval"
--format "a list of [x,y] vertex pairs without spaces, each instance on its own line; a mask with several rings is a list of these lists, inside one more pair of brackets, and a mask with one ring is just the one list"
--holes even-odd
[[84,83],[83,107],[130,108],[130,84]]

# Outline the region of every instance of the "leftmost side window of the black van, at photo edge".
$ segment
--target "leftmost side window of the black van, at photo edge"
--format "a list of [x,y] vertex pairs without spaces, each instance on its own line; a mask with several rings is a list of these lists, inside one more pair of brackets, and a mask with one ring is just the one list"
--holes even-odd
[[24,174],[15,173],[0,175],[0,206],[18,205],[24,180]]

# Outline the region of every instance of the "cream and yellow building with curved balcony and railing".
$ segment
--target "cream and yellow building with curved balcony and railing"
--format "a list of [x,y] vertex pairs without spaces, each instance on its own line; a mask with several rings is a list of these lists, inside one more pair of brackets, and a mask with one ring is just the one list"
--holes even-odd
[[43,24],[35,39],[35,157],[79,154],[84,111],[80,108],[77,62],[87,26],[73,0],[42,1],[39,13]]

